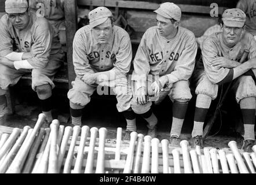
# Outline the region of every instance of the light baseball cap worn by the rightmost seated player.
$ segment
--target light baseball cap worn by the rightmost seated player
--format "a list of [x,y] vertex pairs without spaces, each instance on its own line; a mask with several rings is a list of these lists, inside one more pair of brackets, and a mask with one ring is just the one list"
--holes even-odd
[[222,21],[228,27],[242,28],[246,22],[246,14],[239,8],[226,9],[222,14]]

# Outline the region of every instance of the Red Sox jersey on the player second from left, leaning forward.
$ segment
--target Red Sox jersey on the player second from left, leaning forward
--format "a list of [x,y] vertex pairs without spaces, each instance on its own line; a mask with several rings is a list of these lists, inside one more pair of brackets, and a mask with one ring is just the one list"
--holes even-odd
[[77,77],[86,73],[113,70],[116,75],[126,75],[131,65],[131,41],[125,29],[116,25],[107,44],[99,44],[86,25],[75,34],[73,63]]

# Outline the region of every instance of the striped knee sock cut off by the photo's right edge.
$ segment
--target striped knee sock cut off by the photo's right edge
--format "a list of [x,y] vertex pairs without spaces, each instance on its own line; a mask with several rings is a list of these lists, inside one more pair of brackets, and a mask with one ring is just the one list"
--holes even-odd
[[255,140],[254,125],[255,125],[255,98],[244,98],[240,101],[240,109],[244,123],[244,140]]

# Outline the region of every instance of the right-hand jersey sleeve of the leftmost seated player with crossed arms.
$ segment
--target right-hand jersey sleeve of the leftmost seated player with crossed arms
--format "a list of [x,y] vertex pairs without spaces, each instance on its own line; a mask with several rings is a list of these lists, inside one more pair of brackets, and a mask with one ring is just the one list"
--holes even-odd
[[36,57],[28,58],[28,63],[36,68],[45,68],[49,62],[50,51],[52,48],[53,30],[47,21],[40,21],[35,25],[35,31],[33,33],[36,42],[41,42],[45,47],[43,53],[38,54]]

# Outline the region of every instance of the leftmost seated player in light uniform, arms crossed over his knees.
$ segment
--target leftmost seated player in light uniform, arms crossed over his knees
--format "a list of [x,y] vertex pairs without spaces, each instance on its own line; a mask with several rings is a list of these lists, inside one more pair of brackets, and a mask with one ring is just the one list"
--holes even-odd
[[63,61],[60,42],[46,18],[28,11],[26,0],[6,0],[0,23],[0,116],[6,113],[6,89],[31,72],[48,123],[52,121],[53,77]]

